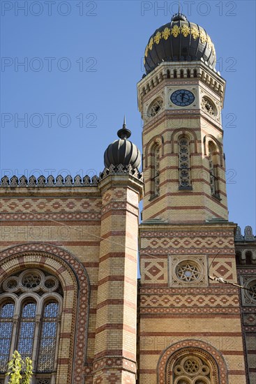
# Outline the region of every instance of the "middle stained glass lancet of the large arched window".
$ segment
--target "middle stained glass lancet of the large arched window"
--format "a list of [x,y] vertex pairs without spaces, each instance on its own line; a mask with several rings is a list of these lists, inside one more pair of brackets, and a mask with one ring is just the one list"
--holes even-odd
[[22,320],[20,322],[20,334],[17,342],[17,350],[22,357],[32,357],[33,335],[36,326],[36,304],[33,302],[24,304],[22,308]]

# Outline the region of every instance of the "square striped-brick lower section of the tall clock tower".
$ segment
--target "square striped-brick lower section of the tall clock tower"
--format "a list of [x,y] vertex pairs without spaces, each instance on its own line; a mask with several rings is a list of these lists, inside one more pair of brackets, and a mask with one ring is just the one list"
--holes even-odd
[[[239,290],[203,274],[236,281],[232,223],[140,225],[140,384],[173,383],[170,359],[179,350],[218,355],[219,381],[246,384]],[[176,286],[170,260],[195,260],[202,276]],[[206,358],[207,360],[207,358]],[[214,371],[214,369],[213,369]]]

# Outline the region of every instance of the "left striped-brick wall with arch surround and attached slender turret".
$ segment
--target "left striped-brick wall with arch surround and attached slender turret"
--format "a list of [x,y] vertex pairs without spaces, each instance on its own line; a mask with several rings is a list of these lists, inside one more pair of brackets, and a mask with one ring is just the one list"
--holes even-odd
[[0,288],[27,268],[63,288],[55,384],[135,383],[142,182],[120,173],[88,188],[0,188]]

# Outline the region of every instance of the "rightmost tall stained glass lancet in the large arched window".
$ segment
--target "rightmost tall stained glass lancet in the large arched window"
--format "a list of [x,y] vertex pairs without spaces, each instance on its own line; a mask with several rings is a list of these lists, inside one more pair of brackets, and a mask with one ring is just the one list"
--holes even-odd
[[45,305],[40,334],[38,372],[50,372],[54,369],[58,313],[57,302],[49,302]]

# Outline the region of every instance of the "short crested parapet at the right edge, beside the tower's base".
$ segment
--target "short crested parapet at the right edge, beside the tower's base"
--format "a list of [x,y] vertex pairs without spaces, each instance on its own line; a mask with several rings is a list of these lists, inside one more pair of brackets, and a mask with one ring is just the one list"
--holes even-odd
[[241,228],[236,228],[234,237],[236,249],[236,263],[239,265],[256,265],[256,236],[253,235],[253,229],[246,226],[244,235],[241,234]]

